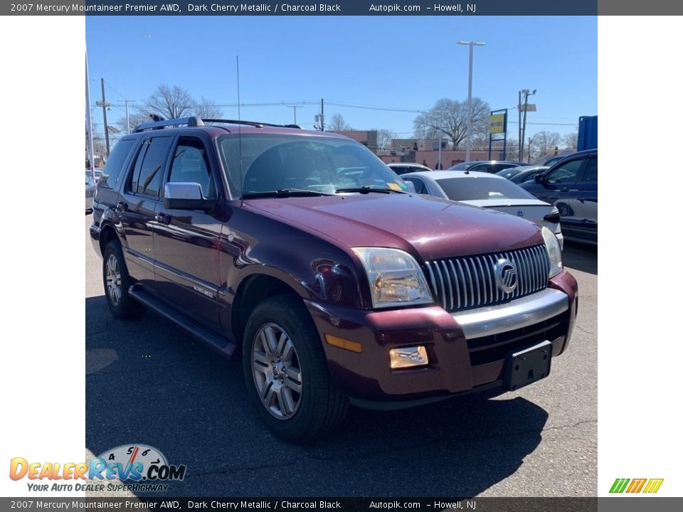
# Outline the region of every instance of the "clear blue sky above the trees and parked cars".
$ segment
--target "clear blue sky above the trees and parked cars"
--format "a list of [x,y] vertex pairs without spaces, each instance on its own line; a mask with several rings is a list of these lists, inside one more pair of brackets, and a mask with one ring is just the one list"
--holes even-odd
[[[472,95],[492,109],[517,105],[521,89],[536,89],[527,135],[571,133],[578,117],[598,112],[598,22],[593,17],[457,16],[86,16],[92,103],[141,103],[160,83],[194,97],[235,104],[235,55],[241,102],[338,102],[428,110],[442,97],[467,100],[466,46],[475,48]],[[236,107],[222,107],[237,117]],[[318,105],[297,109],[310,128]],[[327,105],[356,129],[393,129],[410,137],[414,112]],[[125,117],[112,108],[109,124]],[[244,107],[243,119],[292,122],[285,106]],[[102,112],[93,111],[102,126]],[[517,120],[517,111],[510,112]],[[536,124],[546,123],[546,124]],[[517,134],[517,124],[509,124]],[[515,137],[516,138],[516,137]]]

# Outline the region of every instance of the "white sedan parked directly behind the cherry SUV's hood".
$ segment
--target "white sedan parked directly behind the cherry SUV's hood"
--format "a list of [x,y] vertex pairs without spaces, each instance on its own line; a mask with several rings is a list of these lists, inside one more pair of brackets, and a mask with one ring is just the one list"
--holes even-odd
[[403,179],[411,181],[417,193],[490,208],[531,220],[551,230],[557,237],[560,248],[564,245],[557,208],[539,201],[502,176],[470,171],[433,171],[403,176]]

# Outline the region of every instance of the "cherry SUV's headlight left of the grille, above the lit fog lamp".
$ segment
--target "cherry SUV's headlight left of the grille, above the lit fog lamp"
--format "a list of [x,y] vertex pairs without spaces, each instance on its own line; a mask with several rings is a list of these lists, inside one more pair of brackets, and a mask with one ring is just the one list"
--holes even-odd
[[374,308],[433,302],[425,275],[407,252],[384,247],[354,247],[370,282]]

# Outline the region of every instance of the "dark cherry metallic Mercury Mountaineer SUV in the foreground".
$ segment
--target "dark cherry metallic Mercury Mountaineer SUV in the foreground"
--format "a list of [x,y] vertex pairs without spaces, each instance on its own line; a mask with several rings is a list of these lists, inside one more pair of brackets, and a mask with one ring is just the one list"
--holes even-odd
[[546,377],[576,314],[555,235],[411,193],[298,127],[173,119],[123,137],[90,228],[112,314],[241,353],[260,416],[305,441],[349,402],[406,407]]

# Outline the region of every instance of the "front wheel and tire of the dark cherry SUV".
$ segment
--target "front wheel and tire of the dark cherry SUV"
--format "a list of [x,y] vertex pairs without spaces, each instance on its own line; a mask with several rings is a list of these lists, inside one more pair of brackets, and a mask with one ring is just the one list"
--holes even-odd
[[272,297],[254,309],[242,361],[248,393],[277,437],[307,442],[344,420],[349,400],[329,378],[318,332],[298,297]]

